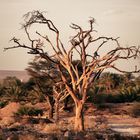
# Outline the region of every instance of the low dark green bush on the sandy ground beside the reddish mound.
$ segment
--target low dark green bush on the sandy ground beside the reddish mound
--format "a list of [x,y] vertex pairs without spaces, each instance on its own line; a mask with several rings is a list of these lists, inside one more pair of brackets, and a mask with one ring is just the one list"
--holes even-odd
[[23,116],[23,115],[28,115],[28,116],[38,116],[38,115],[43,115],[43,110],[41,109],[35,109],[32,107],[26,107],[22,106],[18,109],[17,116]]

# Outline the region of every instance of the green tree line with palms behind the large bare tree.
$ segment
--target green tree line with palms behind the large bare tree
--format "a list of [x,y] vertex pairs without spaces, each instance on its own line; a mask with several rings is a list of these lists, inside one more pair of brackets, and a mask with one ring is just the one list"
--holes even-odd
[[[78,61],[74,61],[74,63],[78,63]],[[81,70],[81,66],[78,67]],[[29,62],[26,69],[30,75],[28,81],[23,82],[17,77],[7,76],[0,84],[0,102],[20,102],[23,104],[47,102],[50,106],[49,118],[53,117],[56,102],[57,104],[63,103],[64,109],[67,109],[68,101],[71,99],[68,94],[60,92],[59,95],[59,93],[54,92],[55,83],[52,82],[52,77],[47,75],[48,70],[50,70],[49,64],[39,60]],[[53,80],[59,80],[59,75],[53,69],[49,73],[52,73]],[[64,88],[62,87],[61,90]],[[93,104],[134,101],[140,101],[140,76],[135,77],[132,73],[104,72],[95,83],[91,84],[88,90],[87,102]],[[58,119],[58,117],[56,118]]]

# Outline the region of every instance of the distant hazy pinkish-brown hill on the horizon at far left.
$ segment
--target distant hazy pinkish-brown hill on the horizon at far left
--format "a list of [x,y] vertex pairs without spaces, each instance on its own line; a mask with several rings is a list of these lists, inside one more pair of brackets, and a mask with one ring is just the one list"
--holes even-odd
[[14,70],[0,70],[0,81],[2,81],[7,76],[17,77],[18,79],[27,81],[29,79],[29,75],[26,71],[14,71]]

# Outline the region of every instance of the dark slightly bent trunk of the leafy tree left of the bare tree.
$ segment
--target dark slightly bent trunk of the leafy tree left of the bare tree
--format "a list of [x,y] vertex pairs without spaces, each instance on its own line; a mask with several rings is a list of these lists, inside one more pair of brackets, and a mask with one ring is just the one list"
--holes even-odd
[[48,114],[48,118],[52,119],[53,118],[53,110],[54,110],[54,101],[52,97],[47,97],[47,101],[49,104],[49,114]]

